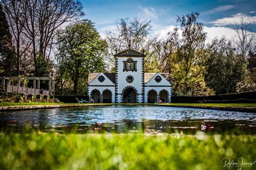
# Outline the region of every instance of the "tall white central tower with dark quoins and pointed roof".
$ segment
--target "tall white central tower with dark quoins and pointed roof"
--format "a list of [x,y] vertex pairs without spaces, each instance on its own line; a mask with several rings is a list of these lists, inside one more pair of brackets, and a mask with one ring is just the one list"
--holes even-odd
[[144,57],[146,55],[129,48],[115,54],[116,103],[144,102]]

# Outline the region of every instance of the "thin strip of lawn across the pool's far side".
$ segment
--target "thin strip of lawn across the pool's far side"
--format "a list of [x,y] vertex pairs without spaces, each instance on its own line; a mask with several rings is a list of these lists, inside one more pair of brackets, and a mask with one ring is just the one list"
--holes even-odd
[[[39,102],[31,102],[31,103],[8,103],[2,102],[0,103],[0,107],[4,106],[15,106],[15,105],[58,105],[58,104],[79,104],[79,105],[88,105],[88,104],[100,104],[100,105],[131,105],[130,103],[39,103]],[[156,105],[151,103],[132,103],[136,105]],[[170,106],[204,106],[204,107],[256,107],[256,103],[165,103],[165,104],[157,104],[157,105],[170,105]]]

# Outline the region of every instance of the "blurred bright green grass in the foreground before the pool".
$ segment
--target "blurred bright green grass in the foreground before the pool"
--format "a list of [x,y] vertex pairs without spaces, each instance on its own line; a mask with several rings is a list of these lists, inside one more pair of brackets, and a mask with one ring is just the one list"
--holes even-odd
[[228,169],[221,159],[255,161],[255,138],[203,132],[195,136],[0,133],[0,169]]

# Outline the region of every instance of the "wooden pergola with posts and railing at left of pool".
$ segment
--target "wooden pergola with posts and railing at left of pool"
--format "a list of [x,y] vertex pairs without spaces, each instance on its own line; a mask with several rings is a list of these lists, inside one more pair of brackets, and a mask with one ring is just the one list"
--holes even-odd
[[[11,80],[17,80],[17,86],[12,84]],[[33,86],[31,88],[25,87],[26,80],[33,80]],[[48,80],[49,88],[41,89],[40,81]],[[55,80],[52,77],[0,77],[0,86],[1,89],[7,93],[23,93],[23,94],[32,94],[32,95],[46,95],[46,96],[54,96],[55,92]]]

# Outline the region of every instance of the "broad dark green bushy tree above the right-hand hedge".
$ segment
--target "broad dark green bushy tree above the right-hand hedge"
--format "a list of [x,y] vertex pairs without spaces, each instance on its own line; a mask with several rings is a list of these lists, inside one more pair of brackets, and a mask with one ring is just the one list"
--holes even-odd
[[245,59],[235,54],[232,42],[226,38],[213,39],[208,50],[207,86],[215,90],[216,94],[235,93],[237,84],[245,77]]

